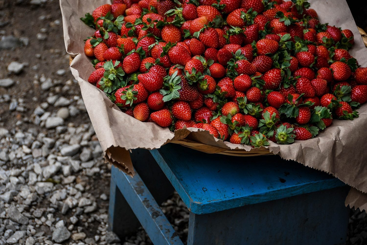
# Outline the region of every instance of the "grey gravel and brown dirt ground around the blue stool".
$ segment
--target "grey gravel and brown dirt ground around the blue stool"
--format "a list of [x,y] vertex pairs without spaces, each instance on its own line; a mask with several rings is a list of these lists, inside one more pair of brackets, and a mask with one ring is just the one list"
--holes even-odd
[[[108,232],[110,169],[68,68],[58,1],[0,0],[0,28],[0,245],[152,244],[142,228]],[[186,241],[177,193],[162,209]],[[348,236],[367,244],[365,212],[351,211]]]

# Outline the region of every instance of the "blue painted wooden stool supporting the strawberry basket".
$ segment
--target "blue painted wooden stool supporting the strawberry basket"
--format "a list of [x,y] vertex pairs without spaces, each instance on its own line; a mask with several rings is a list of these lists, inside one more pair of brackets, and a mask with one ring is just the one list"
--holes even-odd
[[175,189],[190,211],[189,245],[345,242],[349,188],[326,173],[279,156],[204,154],[176,144],[137,149],[131,158],[133,178],[112,167],[109,223],[121,237],[141,225],[155,245],[182,245],[158,205]]

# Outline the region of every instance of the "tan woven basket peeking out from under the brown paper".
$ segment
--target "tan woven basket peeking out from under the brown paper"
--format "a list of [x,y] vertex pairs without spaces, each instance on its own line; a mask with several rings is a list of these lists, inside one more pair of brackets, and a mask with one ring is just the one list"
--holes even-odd
[[[359,33],[362,36],[364,45],[367,47],[367,33],[362,28],[358,27],[358,30],[359,30]],[[69,60],[70,60],[70,64],[71,64],[71,62],[73,61],[73,58],[70,56]],[[197,141],[193,141],[193,140],[190,140],[188,138],[173,141],[171,143],[180,144],[180,145],[183,145],[185,147],[195,149],[196,151],[201,151],[201,152],[210,153],[210,154],[216,153],[216,154],[224,154],[224,155],[230,155],[230,156],[273,155],[273,153],[271,153],[269,151],[269,149],[267,149],[265,147],[253,148],[253,149],[251,149],[251,151],[245,151],[243,149],[226,149],[226,148],[217,147],[217,146],[214,146],[214,145],[207,145],[207,144],[199,143]]]

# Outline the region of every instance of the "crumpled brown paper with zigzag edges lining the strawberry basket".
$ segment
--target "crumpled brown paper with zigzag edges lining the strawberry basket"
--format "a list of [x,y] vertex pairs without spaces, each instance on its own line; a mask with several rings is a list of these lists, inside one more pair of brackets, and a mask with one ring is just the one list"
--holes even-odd
[[[350,54],[362,66],[367,65],[367,50],[345,0],[310,0],[322,23],[350,29],[355,35],[355,45]],[[144,123],[120,111],[103,91],[86,82],[94,68],[84,55],[84,41],[94,32],[80,21],[86,12],[106,0],[60,0],[67,52],[75,57],[70,69],[79,82],[81,95],[92,125],[105,151],[106,162],[119,167],[125,173],[134,175],[129,149],[154,149],[181,140],[187,136],[200,143],[220,148],[256,151],[247,145],[235,145],[215,139],[208,131],[182,129],[172,133],[155,123]],[[270,142],[270,152],[287,160],[294,160],[306,166],[333,174],[352,188],[345,204],[367,209],[367,151],[364,149],[367,137],[367,105],[359,109],[359,118],[353,121],[334,120],[333,125],[317,137],[306,141],[295,141],[292,145],[277,145]],[[216,152],[214,149],[214,152]],[[214,153],[213,152],[213,153]],[[254,152],[255,153],[255,152]]]

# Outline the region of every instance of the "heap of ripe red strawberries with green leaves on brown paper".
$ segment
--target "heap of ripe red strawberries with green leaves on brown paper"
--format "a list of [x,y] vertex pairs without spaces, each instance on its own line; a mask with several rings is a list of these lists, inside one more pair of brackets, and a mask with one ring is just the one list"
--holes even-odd
[[306,0],[114,0],[96,29],[88,82],[123,112],[233,144],[291,144],[358,116],[367,68],[353,33],[320,24]]

